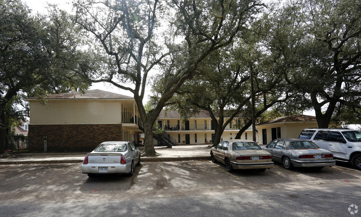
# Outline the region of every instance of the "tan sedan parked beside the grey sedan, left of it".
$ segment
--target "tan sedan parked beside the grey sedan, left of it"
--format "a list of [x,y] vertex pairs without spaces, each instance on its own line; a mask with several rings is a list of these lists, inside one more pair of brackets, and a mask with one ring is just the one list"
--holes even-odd
[[250,140],[224,140],[210,149],[210,158],[226,165],[228,172],[234,169],[258,169],[265,171],[272,168],[272,156],[262,150],[256,142]]

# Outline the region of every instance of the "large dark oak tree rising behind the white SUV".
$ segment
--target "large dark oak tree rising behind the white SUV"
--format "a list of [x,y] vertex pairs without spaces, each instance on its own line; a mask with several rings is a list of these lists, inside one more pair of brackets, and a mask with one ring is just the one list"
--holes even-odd
[[286,79],[304,94],[303,105],[312,105],[318,127],[329,127],[335,112],[360,111],[360,8],[357,0],[301,0],[278,14],[279,20],[293,20],[279,31],[287,35],[280,47],[292,68]]

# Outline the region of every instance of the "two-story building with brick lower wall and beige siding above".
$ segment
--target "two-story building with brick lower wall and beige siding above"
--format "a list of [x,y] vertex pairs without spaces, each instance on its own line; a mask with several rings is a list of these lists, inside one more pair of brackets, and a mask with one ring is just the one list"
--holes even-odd
[[133,97],[103,90],[53,94],[30,103],[29,150],[91,151],[104,141],[140,141],[142,121]]

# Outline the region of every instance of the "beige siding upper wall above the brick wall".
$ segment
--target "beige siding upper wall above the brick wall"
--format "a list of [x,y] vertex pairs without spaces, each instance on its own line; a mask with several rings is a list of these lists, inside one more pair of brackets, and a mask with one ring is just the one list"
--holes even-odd
[[[69,102],[71,101],[71,102]],[[120,123],[119,101],[59,100],[30,102],[30,124],[117,124]]]

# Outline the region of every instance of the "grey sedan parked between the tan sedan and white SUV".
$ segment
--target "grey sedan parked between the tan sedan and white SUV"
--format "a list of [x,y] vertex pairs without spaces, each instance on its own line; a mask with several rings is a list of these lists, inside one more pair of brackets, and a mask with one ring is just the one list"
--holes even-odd
[[336,161],[330,151],[319,148],[306,139],[275,139],[262,147],[272,154],[272,160],[283,163],[284,168],[335,166]]

